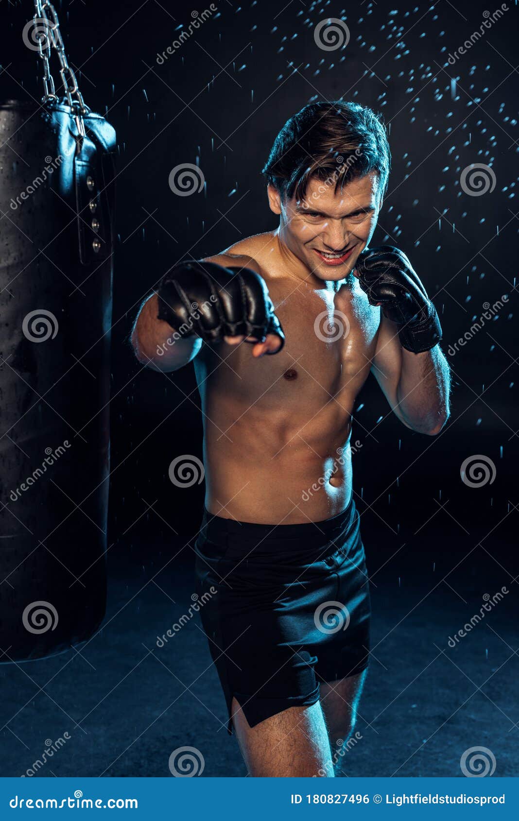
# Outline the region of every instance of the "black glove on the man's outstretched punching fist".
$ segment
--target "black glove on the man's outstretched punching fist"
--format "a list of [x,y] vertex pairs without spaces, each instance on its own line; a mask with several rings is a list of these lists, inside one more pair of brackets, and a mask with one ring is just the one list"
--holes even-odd
[[[157,319],[189,337],[218,342],[223,337],[257,337],[268,333],[285,342],[281,323],[263,277],[250,268],[224,268],[214,262],[183,262],[164,274],[155,289]],[[252,345],[257,342],[247,339]]]

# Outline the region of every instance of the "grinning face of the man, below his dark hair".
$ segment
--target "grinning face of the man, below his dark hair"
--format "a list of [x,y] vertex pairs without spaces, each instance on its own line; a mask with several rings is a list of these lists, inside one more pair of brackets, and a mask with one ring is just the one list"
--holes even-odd
[[278,236],[316,277],[347,277],[370,241],[379,217],[382,197],[379,175],[370,172],[341,187],[311,179],[305,199],[284,199],[269,186],[269,204],[279,214]]

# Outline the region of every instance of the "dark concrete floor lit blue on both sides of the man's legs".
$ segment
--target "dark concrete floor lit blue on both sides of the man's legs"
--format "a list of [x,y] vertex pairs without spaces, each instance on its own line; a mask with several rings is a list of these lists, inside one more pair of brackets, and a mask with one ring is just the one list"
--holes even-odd
[[[88,644],[0,666],[2,776],[25,773],[49,749],[46,741],[60,737],[65,743],[40,777],[170,777],[169,756],[181,746],[203,754],[204,777],[245,775],[236,740],[225,731],[199,617],[163,648],[155,645],[191,604],[191,559],[174,569],[170,563],[154,580],[165,563],[160,556],[132,571],[116,559],[107,618]],[[449,635],[480,610],[481,583],[488,594],[506,583],[489,557],[479,557],[477,583],[467,562],[448,584],[432,565],[404,580],[384,567],[377,572],[362,737],[345,755],[348,775],[461,777],[460,758],[475,746],[492,750],[496,777],[517,774],[517,584],[449,648]]]

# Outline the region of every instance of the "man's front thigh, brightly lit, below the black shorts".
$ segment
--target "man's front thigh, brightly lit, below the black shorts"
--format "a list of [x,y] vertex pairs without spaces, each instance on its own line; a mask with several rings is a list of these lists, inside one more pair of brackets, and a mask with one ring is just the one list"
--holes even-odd
[[232,699],[232,722],[251,776],[333,776],[319,701],[310,707],[290,707],[250,727],[237,699]]

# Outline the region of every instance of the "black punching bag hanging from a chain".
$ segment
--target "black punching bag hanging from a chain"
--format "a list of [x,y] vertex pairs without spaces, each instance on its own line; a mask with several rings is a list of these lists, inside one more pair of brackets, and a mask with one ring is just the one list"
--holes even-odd
[[0,104],[0,663],[105,611],[115,132],[82,122]]

